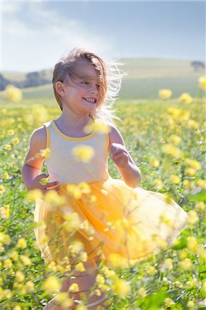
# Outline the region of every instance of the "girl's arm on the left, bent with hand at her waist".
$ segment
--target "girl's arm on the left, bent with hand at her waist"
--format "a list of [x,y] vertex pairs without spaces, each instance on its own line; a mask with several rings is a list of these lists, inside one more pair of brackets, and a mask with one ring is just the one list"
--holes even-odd
[[[35,130],[30,139],[30,149],[25,158],[22,168],[22,178],[25,187],[30,189],[41,189],[42,191],[48,190],[47,187],[56,185],[57,183],[51,182],[45,185],[41,184],[41,179],[48,177],[46,174],[40,174],[43,165],[44,157],[40,156],[41,149],[46,148],[46,132],[45,127],[40,127]],[[57,189],[57,188],[55,188]],[[59,189],[59,188],[58,188]]]

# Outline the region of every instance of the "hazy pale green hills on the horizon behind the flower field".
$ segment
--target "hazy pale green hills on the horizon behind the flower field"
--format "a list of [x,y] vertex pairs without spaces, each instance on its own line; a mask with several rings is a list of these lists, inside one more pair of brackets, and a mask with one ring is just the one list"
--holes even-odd
[[[192,61],[178,59],[120,59],[121,70],[127,72],[123,79],[121,99],[157,99],[158,90],[169,88],[172,96],[180,96],[189,92],[198,96],[198,77],[205,74],[204,70],[195,71]],[[52,81],[52,70],[43,70]],[[11,80],[23,81],[23,72],[2,72],[3,77]],[[52,84],[23,89],[25,99],[53,98]]]

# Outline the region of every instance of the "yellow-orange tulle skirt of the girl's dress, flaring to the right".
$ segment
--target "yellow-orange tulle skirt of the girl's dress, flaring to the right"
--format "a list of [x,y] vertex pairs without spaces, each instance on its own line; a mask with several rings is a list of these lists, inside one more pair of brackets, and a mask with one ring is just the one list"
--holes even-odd
[[[116,254],[136,263],[164,244],[172,245],[187,225],[187,213],[158,192],[131,188],[111,177],[89,187],[89,194],[56,208],[37,198],[34,234],[45,263],[68,256],[74,240],[82,242],[88,260],[101,254],[110,262]],[[67,185],[61,185],[58,193],[67,195]]]

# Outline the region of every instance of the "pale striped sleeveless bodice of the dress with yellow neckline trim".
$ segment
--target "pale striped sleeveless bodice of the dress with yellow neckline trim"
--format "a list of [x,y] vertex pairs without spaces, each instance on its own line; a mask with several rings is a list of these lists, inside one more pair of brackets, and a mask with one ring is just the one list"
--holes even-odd
[[[47,147],[50,156],[45,163],[50,174],[50,180],[59,183],[80,183],[107,180],[108,174],[108,134],[92,132],[82,138],[73,138],[63,134],[54,120],[44,123],[47,132]],[[91,161],[85,163],[74,156],[72,149],[87,145],[94,149]]]

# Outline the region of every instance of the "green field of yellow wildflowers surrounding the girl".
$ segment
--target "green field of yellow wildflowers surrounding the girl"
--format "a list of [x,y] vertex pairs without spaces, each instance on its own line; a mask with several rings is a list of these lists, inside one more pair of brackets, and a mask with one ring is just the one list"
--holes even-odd
[[[141,187],[173,198],[189,219],[169,249],[163,243],[160,253],[130,267],[118,259],[111,268],[101,264],[93,291],[108,293],[111,310],[206,309],[205,78],[199,83],[199,98],[185,93],[172,99],[170,90],[160,90],[158,101],[115,105],[122,118],[116,125],[141,169]],[[34,128],[57,117],[60,110],[57,105],[6,106],[22,101],[21,96],[21,91],[8,87],[0,113],[0,309],[43,309],[54,296],[67,309],[71,298],[58,293],[63,268],[43,264],[34,239],[35,195],[27,194],[21,178]],[[120,178],[110,160],[109,168],[113,178]],[[83,297],[77,310],[87,309]]]

